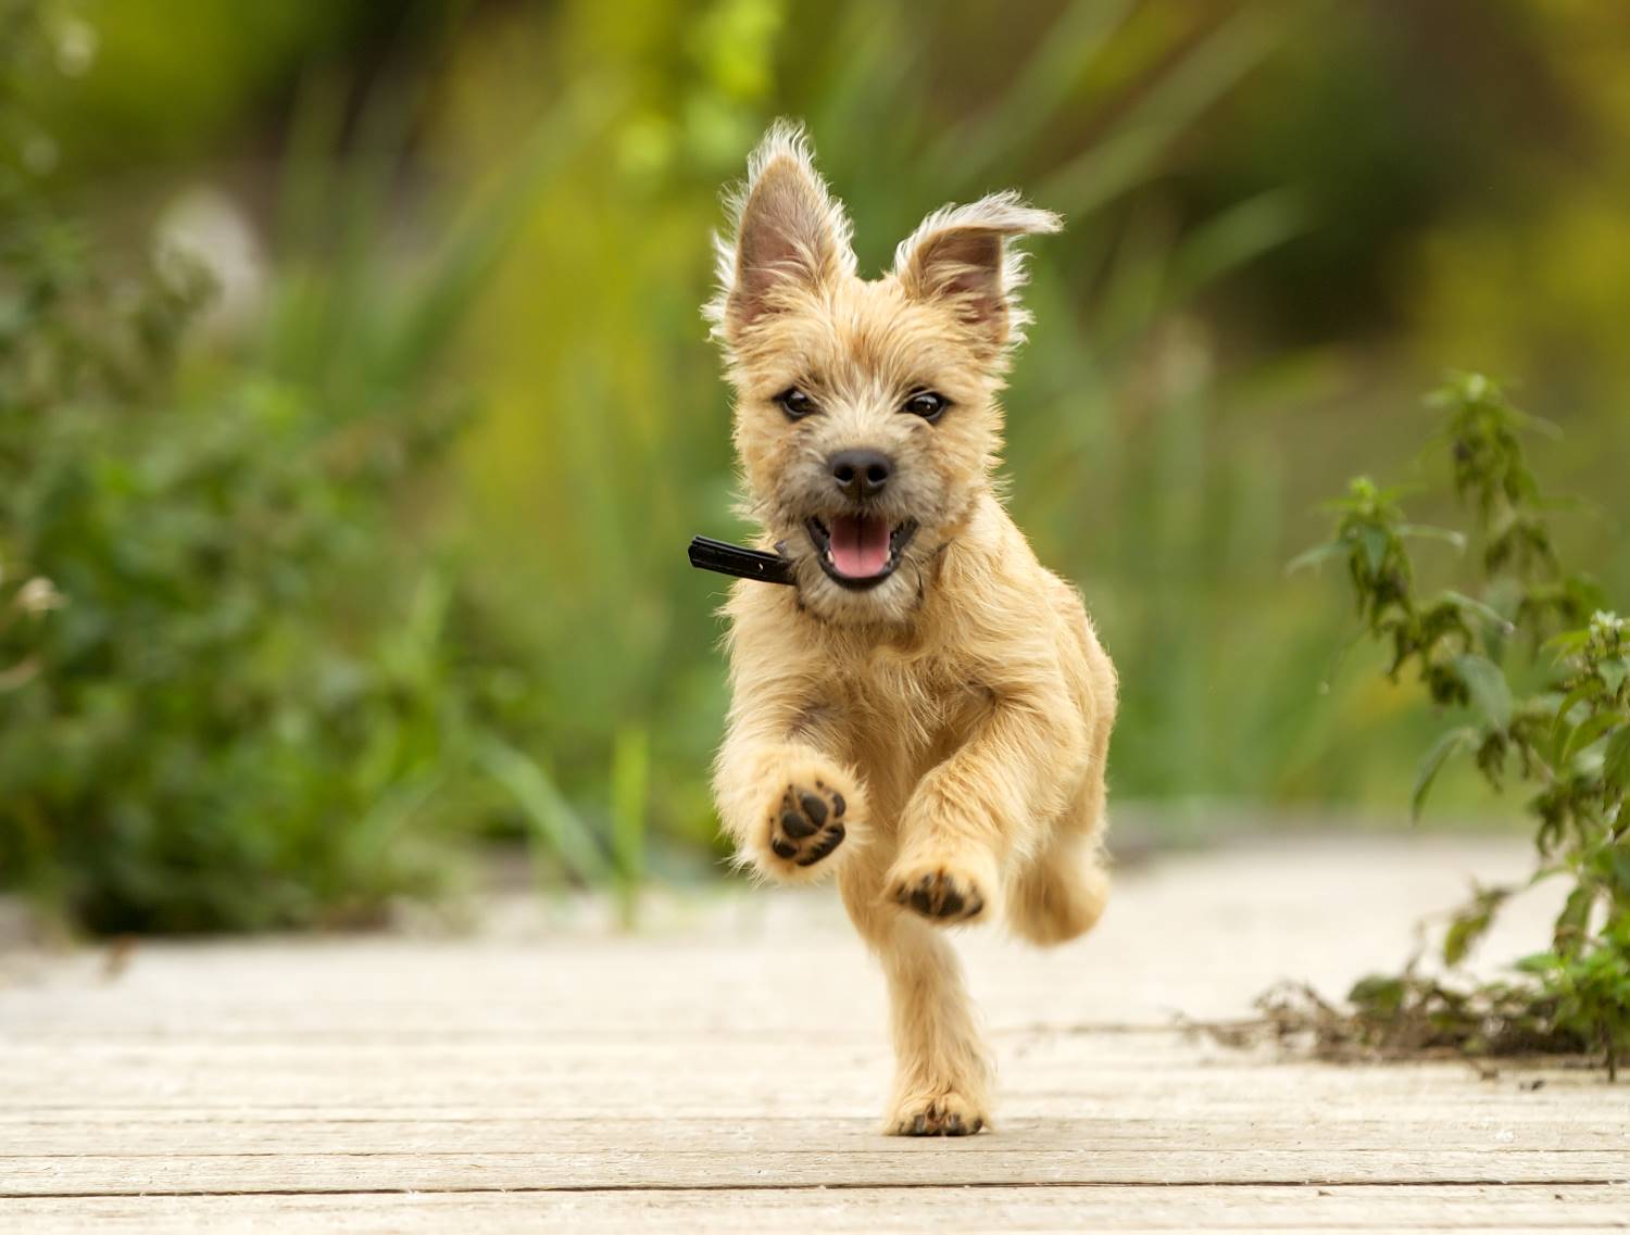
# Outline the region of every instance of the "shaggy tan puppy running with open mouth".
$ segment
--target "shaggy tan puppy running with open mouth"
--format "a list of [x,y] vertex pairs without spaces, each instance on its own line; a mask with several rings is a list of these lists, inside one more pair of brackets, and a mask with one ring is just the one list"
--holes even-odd
[[947,207],[862,280],[843,205],[787,124],[730,205],[707,316],[748,507],[797,585],[732,591],[719,813],[764,878],[836,872],[888,976],[885,1129],[978,1132],[989,1064],[936,927],[1006,914],[1058,943],[1108,893],[1115,670],[991,481],[1027,321],[1009,243],[1060,220],[1011,192]]

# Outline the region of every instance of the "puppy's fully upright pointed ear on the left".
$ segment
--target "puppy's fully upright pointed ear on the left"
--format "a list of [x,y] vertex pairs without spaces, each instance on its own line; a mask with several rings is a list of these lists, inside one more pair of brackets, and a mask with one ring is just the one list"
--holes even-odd
[[791,295],[854,272],[849,220],[815,171],[802,127],[769,127],[727,205],[734,226],[714,236],[719,290],[704,310],[727,345]]

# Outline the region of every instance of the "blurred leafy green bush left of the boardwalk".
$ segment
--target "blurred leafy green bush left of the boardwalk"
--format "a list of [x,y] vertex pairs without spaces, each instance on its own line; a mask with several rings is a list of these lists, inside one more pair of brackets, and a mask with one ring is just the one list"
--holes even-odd
[[394,841],[465,694],[381,547],[445,417],[347,420],[253,371],[189,394],[192,272],[44,196],[0,230],[0,526],[64,601],[29,648],[0,634],[33,670],[0,696],[0,877],[95,930],[357,921],[427,888]]

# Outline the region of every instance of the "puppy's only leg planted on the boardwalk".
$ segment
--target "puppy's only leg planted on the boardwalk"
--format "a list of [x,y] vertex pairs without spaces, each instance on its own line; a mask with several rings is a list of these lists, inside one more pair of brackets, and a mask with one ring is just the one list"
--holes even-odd
[[883,1119],[893,1136],[971,1136],[989,1123],[989,1061],[962,966],[945,935],[887,903],[887,854],[838,873],[843,901],[888,979],[895,1087]]

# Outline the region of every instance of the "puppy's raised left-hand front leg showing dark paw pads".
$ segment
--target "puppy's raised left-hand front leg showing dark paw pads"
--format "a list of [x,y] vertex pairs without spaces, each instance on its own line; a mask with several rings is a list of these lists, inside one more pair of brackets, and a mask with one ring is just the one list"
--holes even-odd
[[714,798],[737,857],[781,881],[818,878],[866,816],[864,785],[838,759],[833,714],[797,675],[735,683]]

